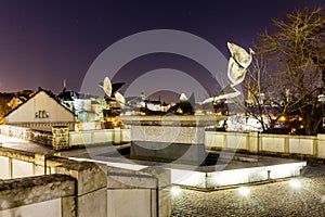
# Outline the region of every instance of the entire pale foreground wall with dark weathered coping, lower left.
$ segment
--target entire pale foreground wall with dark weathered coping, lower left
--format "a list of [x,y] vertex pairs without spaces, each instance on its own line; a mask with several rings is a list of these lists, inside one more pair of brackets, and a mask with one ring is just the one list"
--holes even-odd
[[170,171],[162,168],[134,171],[0,148],[0,216],[170,215]]

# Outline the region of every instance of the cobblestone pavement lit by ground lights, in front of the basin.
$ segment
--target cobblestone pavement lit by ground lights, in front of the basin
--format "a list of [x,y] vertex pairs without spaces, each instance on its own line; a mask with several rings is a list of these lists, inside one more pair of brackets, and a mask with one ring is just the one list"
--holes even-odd
[[200,192],[182,190],[172,196],[172,216],[325,216],[325,165],[309,164],[300,188],[290,180],[247,186],[243,196],[238,188]]

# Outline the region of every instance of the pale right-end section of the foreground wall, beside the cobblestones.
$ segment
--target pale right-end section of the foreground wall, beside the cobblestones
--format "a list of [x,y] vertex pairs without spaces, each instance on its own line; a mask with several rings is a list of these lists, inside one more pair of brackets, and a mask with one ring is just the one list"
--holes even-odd
[[[108,167],[109,217],[158,216],[158,178],[144,171]],[[170,216],[162,215],[161,217]]]

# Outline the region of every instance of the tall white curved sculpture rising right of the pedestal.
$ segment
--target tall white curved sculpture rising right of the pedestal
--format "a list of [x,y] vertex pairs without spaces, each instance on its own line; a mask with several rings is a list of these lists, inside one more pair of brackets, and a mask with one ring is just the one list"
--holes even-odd
[[240,84],[246,75],[247,68],[252,61],[252,54],[255,52],[249,48],[249,53],[242,47],[227,42],[227,48],[231,52],[231,56],[227,64],[227,78],[232,82],[221,90],[221,94],[206,99],[205,103],[213,103],[221,99],[231,99],[240,94],[240,92],[234,87]]

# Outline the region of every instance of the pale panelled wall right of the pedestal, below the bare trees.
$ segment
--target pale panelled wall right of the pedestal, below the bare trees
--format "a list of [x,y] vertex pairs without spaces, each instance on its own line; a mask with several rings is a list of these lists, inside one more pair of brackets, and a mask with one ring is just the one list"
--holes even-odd
[[302,154],[325,158],[325,135],[294,136],[207,131],[205,140],[207,149],[236,149],[251,153]]

